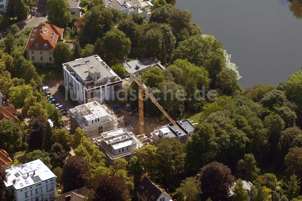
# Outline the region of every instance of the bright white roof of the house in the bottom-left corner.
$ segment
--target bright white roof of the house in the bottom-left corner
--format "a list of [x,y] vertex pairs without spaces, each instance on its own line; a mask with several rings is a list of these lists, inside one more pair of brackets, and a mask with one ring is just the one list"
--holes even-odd
[[[16,190],[56,178],[56,175],[40,160],[20,164],[5,170],[7,173],[6,187],[13,186]],[[13,183],[15,181],[15,183]]]

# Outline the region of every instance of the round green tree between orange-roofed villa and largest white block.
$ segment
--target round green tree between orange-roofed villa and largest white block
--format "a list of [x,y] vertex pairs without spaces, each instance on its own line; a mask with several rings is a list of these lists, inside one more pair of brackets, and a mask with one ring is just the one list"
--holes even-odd
[[[57,0],[50,0],[50,1],[57,1]],[[72,57],[72,52],[70,51],[68,44],[63,42],[57,42],[56,47],[53,49],[53,58],[55,60],[54,62],[56,66],[61,68],[62,63],[68,62],[71,59],[71,57]]]

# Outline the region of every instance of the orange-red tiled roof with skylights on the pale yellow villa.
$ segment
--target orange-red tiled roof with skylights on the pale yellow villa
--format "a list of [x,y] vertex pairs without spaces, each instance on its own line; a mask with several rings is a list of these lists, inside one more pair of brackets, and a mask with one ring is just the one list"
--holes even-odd
[[[63,36],[63,28],[53,24],[43,23],[31,30],[26,44],[26,50],[52,50],[55,48],[59,36]],[[36,47],[38,44],[38,47]],[[46,46],[44,47],[44,45]]]

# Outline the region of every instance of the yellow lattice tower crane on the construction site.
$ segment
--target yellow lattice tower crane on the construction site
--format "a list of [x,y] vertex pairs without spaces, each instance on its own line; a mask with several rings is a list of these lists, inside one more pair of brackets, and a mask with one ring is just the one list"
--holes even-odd
[[138,116],[139,116],[139,126],[140,126],[140,138],[144,136],[144,102],[143,102],[143,92],[150,98],[150,100],[159,108],[160,111],[169,119],[169,121],[176,126],[177,129],[181,130],[176,122],[165,112],[165,110],[160,106],[157,100],[149,92],[146,85],[142,82],[141,79],[137,78],[132,73],[129,73],[131,79],[138,85]]

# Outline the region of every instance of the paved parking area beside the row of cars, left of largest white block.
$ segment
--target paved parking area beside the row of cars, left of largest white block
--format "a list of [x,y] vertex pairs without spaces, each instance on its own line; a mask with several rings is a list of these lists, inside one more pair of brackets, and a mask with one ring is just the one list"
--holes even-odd
[[[63,79],[60,80],[55,80],[52,82],[48,82],[48,83],[44,83],[44,86],[48,86],[49,87],[49,92],[51,93],[51,96],[53,96],[56,99],[56,102],[54,104],[62,104],[63,107],[66,110],[69,110],[70,108],[75,107],[75,103],[72,101],[68,101],[68,96],[62,94],[62,92],[59,90],[59,84],[63,83]],[[67,120],[67,114],[62,116],[62,120],[65,121]]]

